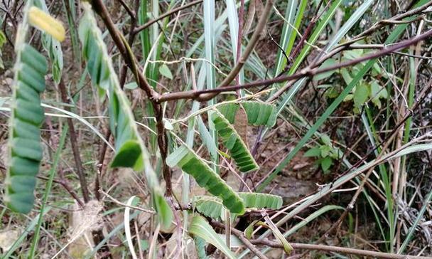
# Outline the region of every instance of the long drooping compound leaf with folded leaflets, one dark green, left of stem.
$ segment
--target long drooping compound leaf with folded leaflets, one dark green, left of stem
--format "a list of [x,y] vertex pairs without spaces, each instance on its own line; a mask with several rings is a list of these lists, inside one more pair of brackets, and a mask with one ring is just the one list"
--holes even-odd
[[135,171],[144,170],[159,221],[163,226],[168,227],[171,225],[173,212],[163,198],[158,178],[151,168],[148,152],[139,137],[129,100],[120,88],[119,79],[102,39],[102,32],[97,27],[91,6],[85,2],[82,6],[85,10],[79,29],[82,56],[87,61],[87,71],[92,79],[92,85],[98,87],[99,93],[109,95],[109,127],[114,135],[116,149],[111,166],[129,167]]

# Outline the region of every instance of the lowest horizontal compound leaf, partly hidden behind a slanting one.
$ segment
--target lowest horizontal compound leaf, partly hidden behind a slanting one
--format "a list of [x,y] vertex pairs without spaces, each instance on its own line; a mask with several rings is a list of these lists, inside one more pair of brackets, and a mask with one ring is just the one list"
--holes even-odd
[[[243,200],[245,208],[270,208],[279,209],[282,206],[281,196],[273,194],[255,194],[240,192],[237,193]],[[225,211],[222,206],[222,200],[212,196],[195,196],[193,198],[193,206],[202,215],[214,218],[216,220],[225,220]]]

